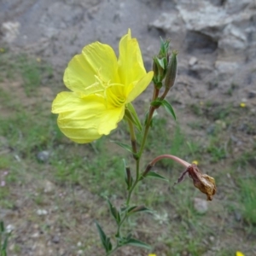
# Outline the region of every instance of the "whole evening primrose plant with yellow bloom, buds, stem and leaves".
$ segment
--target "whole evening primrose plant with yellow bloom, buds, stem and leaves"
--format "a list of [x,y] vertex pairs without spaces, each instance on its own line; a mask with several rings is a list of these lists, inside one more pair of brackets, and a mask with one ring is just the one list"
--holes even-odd
[[[150,249],[147,243],[125,234],[123,224],[137,212],[150,212],[144,205],[134,205],[131,195],[138,183],[146,177],[166,180],[152,171],[154,165],[162,159],[171,159],[185,166],[185,171],[177,179],[182,182],[188,173],[196,188],[212,200],[216,192],[214,179],[202,174],[195,164],[179,159],[170,154],[161,154],[141,166],[143,151],[148,138],[148,131],[153,125],[155,110],[166,108],[167,113],[176,119],[172,105],[166,101],[177,73],[177,51],[169,52],[169,41],[160,42],[159,54],[153,58],[153,71],[146,72],[143,57],[136,38],[131,38],[131,30],[120,39],[119,57],[107,44],[99,42],[86,45],[80,55],[75,55],[64,73],[64,84],[70,91],[59,93],[52,103],[52,113],[58,113],[57,123],[61,131],[75,143],[91,143],[108,135],[124,120],[130,131],[131,145],[113,142],[128,150],[135,161],[135,170],[124,162],[126,198],[119,208],[107,198],[109,212],[116,223],[114,236],[107,236],[102,226],[96,221],[105,255],[111,255],[119,247],[131,245]],[[143,122],[138,118],[132,103],[153,82],[154,92],[148,112]],[[143,125],[142,125],[143,123]],[[137,140],[137,137],[142,139]],[[103,172],[106,172],[105,170]]]

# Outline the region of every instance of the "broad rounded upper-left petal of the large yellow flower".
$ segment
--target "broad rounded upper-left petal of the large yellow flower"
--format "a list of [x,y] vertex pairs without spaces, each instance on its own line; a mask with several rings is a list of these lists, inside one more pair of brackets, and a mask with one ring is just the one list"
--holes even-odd
[[99,42],[86,45],[82,54],[75,55],[64,73],[64,84],[73,91],[84,92],[97,82],[96,76],[104,82],[119,82],[118,64],[113,49]]

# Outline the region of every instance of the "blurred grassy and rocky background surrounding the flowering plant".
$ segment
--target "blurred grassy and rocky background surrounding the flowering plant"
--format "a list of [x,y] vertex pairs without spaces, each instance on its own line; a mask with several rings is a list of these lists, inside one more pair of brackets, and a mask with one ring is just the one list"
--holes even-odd
[[[104,198],[120,206],[121,158],[131,166],[132,158],[109,137],[70,142],[50,108],[73,55],[95,41],[118,54],[128,28],[147,70],[160,37],[179,52],[168,96],[177,122],[159,111],[144,164],[164,153],[196,161],[218,190],[207,202],[188,177],[173,188],[182,168],[159,162],[155,171],[170,183],[147,180],[133,198],[155,213],[125,226],[152,252],[116,255],[256,255],[256,1],[0,0],[0,218],[13,230],[9,255],[103,255],[94,219],[114,234]],[[142,119],[152,87],[135,103]],[[128,143],[125,124],[110,138]]]

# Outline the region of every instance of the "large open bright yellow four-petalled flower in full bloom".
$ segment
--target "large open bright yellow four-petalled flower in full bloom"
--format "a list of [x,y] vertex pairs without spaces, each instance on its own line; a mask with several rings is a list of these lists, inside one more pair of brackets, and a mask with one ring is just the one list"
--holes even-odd
[[125,105],[145,90],[153,78],[131,31],[119,42],[119,59],[108,44],[86,45],[64,73],[72,91],[59,93],[52,113],[59,113],[61,131],[76,143],[90,143],[108,135],[125,114]]

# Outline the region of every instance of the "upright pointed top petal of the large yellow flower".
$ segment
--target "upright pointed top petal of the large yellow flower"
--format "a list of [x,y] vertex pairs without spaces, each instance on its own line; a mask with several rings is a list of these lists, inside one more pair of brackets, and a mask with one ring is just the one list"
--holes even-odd
[[143,57],[136,38],[131,38],[131,30],[119,43],[119,78],[128,85],[142,79],[146,74]]

